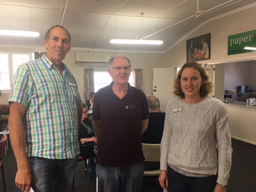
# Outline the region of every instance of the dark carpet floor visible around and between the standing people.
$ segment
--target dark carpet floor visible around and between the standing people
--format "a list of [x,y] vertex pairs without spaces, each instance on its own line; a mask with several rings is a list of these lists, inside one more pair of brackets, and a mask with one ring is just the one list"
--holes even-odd
[[[256,192],[256,145],[232,139],[232,167],[227,192]],[[17,171],[12,148],[3,156],[7,192],[20,192],[14,179]],[[155,178],[144,178],[141,192],[159,192]],[[3,192],[0,174],[0,192]],[[96,178],[91,182],[84,174],[84,161],[78,162],[75,173],[74,192],[96,192]]]

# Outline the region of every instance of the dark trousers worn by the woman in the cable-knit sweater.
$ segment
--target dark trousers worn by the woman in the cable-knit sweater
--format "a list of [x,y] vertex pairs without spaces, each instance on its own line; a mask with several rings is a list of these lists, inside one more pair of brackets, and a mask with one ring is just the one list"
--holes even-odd
[[213,192],[217,175],[208,177],[187,177],[168,166],[168,191],[170,192]]

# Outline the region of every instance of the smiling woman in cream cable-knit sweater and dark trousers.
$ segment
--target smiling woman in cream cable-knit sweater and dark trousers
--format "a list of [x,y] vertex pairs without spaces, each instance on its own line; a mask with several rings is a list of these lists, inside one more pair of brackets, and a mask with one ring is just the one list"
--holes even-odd
[[208,96],[204,68],[187,62],[174,79],[161,142],[162,188],[170,192],[226,192],[231,167],[230,120],[224,103]]

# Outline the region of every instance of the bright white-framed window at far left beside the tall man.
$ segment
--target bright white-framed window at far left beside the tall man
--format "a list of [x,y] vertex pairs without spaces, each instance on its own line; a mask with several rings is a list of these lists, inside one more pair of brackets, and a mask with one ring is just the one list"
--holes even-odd
[[32,53],[0,52],[0,90],[10,92],[18,66],[33,58]]

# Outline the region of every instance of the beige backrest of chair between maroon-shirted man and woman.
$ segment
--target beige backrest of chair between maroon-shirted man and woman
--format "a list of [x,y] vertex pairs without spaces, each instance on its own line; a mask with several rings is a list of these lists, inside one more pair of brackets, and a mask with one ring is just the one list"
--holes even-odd
[[142,143],[142,151],[145,161],[158,162],[160,161],[160,146],[161,144]]

